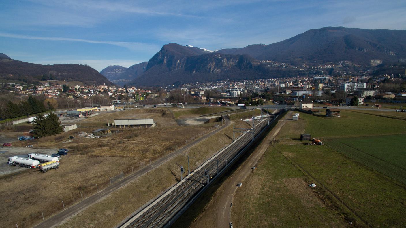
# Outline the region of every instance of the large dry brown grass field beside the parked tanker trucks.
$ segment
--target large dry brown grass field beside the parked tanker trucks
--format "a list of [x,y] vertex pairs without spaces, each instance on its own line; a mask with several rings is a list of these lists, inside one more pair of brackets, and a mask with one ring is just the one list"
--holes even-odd
[[[96,184],[100,190],[110,183],[109,177],[116,176],[122,171],[124,175],[129,174],[132,169],[137,170],[141,166],[141,161],[145,164],[149,162],[150,157],[152,160],[157,156],[162,157],[170,153],[171,148],[174,150],[183,146],[185,139],[211,129],[213,129],[211,124],[147,129],[121,128],[117,129],[119,133],[113,133],[106,138],[76,137],[72,142],[62,143],[69,136],[76,136],[75,133],[80,131],[77,129],[32,142],[18,142],[19,146],[33,144],[35,147],[69,148],[70,151],[69,155],[61,159],[58,170],[50,170],[43,174],[38,170],[26,169],[24,172],[0,178],[1,202],[2,207],[6,208],[0,210],[0,217],[4,221],[0,227],[12,227],[16,223],[19,227],[37,224],[42,219],[41,211],[45,217],[61,211],[63,209],[61,200],[64,201],[65,207],[70,206],[80,200],[80,191],[84,197],[90,196],[96,192]],[[222,138],[218,138],[214,142],[221,140]],[[220,143],[222,145],[225,142]],[[210,147],[214,145],[205,146],[205,149]],[[168,172],[168,169],[175,172],[174,164],[171,165],[165,171],[169,176],[157,182],[153,181],[151,185],[158,193],[174,180],[173,176],[171,178],[171,172]],[[161,182],[162,186],[155,189]],[[152,190],[151,188],[147,186],[148,191]]]

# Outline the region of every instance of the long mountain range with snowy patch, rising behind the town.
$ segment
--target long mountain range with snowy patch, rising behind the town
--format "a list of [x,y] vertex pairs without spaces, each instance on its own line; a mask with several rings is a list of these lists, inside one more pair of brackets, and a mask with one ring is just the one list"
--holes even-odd
[[127,84],[162,86],[304,74],[294,67],[270,67],[264,60],[284,62],[291,66],[319,66],[326,62],[337,64],[349,61],[354,65],[374,68],[380,64],[406,62],[405,40],[406,30],[326,27],[308,30],[278,43],[254,44],[214,52],[169,43],[148,62],[141,63],[142,67],[132,66],[137,66],[137,71],[113,74],[117,70],[107,71],[108,68],[118,68],[110,66],[102,73],[109,79],[125,79]]

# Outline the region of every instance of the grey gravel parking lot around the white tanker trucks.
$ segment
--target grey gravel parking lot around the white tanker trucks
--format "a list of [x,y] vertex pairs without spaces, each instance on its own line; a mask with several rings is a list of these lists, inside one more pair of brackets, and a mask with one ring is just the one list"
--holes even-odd
[[9,166],[7,164],[9,157],[13,156],[26,157],[30,153],[52,155],[57,152],[58,148],[0,146],[0,176],[4,176],[6,174],[11,174],[15,172],[23,172],[25,170],[31,170],[25,167]]

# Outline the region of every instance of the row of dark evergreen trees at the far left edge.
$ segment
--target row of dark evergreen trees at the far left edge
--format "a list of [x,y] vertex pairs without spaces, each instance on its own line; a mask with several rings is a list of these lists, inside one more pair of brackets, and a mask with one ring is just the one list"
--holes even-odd
[[45,107],[43,102],[32,96],[29,96],[27,101],[21,101],[20,103],[8,101],[5,106],[4,109],[0,110],[0,118],[3,120],[54,110],[50,102],[47,102],[48,107]]

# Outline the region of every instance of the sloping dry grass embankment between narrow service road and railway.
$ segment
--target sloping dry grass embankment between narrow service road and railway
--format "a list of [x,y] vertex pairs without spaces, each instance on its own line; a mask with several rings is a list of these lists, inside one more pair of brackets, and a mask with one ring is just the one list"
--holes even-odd
[[[236,127],[247,127],[247,124],[242,121],[238,121],[235,125]],[[104,200],[89,206],[80,214],[70,218],[66,223],[58,227],[87,228],[116,226],[125,217],[143,206],[151,198],[158,196],[165,189],[176,184],[177,179],[179,179],[179,167],[177,163],[185,166],[187,164],[187,155],[194,157],[191,160],[191,170],[193,170],[216,153],[216,151],[229,144],[232,134],[232,127],[229,126],[214,136],[193,146],[188,152],[174,157],[146,175],[139,177],[136,181],[115,191]]]

